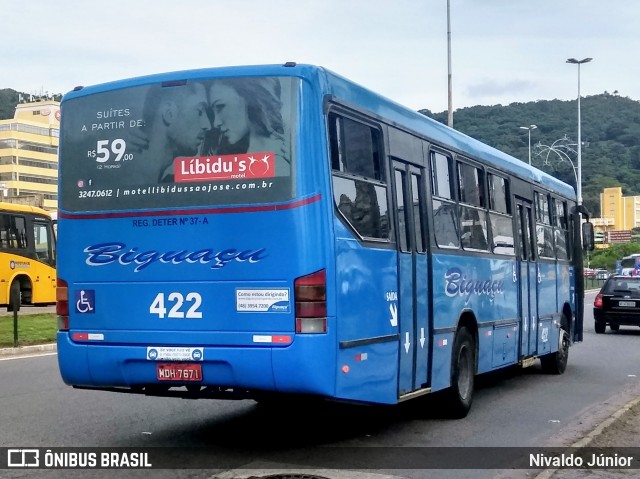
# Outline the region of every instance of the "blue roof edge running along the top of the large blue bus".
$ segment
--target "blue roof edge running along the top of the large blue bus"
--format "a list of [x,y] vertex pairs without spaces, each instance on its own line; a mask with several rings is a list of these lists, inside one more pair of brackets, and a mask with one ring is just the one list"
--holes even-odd
[[207,79],[214,76],[296,76],[307,79],[312,83],[319,83],[324,94],[358,105],[361,109],[368,110],[386,121],[391,121],[397,127],[413,131],[436,144],[447,146],[460,154],[482,160],[489,166],[537,183],[560,195],[571,199],[576,198],[573,187],[542,170],[374,93],[324,67],[315,65],[286,63],[284,65],[231,66],[159,73],[89,87],[76,87],[64,96],[63,104],[78,97],[106,91],[159,82]]

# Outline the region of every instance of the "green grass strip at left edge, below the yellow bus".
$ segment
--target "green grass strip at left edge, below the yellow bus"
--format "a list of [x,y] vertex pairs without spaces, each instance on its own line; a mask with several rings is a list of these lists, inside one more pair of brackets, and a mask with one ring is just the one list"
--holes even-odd
[[[56,315],[18,313],[18,346],[51,343],[56,340]],[[13,347],[13,313],[0,316],[0,348]]]

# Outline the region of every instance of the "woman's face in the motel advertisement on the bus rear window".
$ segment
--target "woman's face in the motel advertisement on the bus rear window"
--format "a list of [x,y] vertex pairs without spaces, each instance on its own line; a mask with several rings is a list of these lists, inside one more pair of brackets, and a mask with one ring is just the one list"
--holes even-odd
[[249,134],[247,102],[233,87],[214,83],[209,90],[209,102],[214,115],[213,126],[230,144],[236,144]]

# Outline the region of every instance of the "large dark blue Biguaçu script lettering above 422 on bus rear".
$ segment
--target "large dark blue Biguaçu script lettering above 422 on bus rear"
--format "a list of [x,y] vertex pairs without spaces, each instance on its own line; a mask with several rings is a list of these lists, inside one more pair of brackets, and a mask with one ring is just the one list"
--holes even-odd
[[197,251],[140,251],[137,246],[127,247],[125,243],[99,243],[87,246],[84,249],[87,253],[86,263],[89,266],[106,266],[114,263],[123,266],[135,266],[136,273],[148,268],[154,263],[162,264],[182,264],[199,263],[210,264],[211,269],[220,269],[230,262],[257,263],[263,260],[267,254],[265,248],[260,249],[225,249],[222,251],[212,248],[200,249]]

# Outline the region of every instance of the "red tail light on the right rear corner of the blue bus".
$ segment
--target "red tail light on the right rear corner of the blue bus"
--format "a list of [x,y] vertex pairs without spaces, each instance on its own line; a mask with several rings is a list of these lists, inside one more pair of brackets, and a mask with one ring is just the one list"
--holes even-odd
[[325,270],[294,281],[296,333],[327,332],[327,275]]

